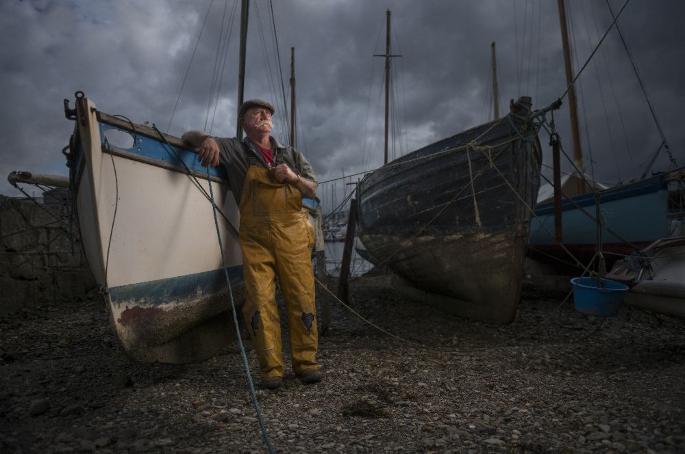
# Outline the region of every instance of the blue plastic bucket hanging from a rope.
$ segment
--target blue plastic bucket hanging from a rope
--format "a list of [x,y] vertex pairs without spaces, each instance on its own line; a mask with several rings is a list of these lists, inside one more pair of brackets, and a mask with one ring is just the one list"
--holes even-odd
[[576,310],[598,317],[616,317],[628,286],[608,279],[573,278],[573,302]]

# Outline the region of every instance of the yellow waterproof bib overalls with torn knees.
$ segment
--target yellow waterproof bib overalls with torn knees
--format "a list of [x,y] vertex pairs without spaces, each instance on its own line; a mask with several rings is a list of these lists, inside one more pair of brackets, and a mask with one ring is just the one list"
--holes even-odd
[[314,228],[300,191],[278,183],[273,170],[250,165],[240,199],[240,245],[245,273],[242,315],[252,336],[262,379],[283,376],[276,276],[286,300],[292,370],[319,369],[312,246]]

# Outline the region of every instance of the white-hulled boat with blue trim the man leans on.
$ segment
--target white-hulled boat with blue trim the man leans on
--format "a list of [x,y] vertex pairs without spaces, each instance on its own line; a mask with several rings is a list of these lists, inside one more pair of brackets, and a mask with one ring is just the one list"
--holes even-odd
[[[206,168],[180,139],[98,111],[82,92],[76,96],[75,109],[64,103],[75,120],[70,189],[116,340],[138,362],[214,356],[234,328],[212,204],[199,190],[210,191]],[[238,208],[223,168],[210,169],[210,178],[226,266],[238,287]]]

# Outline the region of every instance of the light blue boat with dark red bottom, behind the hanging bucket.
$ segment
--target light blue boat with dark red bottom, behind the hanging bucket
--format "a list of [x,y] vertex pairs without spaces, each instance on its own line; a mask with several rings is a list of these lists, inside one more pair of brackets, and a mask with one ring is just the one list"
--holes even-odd
[[[678,183],[685,178],[680,168],[599,191],[602,221],[602,251],[610,268],[616,257],[647,247],[657,239],[671,235],[673,219],[685,213],[675,198],[682,193]],[[595,195],[585,193],[562,200],[562,242],[554,232],[554,202],[538,203],[531,221],[530,254],[558,271],[571,272],[574,263],[568,250],[580,263],[587,265],[597,250]]]

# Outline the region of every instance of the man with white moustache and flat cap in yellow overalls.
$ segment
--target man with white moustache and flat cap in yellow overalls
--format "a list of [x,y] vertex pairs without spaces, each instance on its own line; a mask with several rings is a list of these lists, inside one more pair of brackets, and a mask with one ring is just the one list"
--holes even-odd
[[311,250],[314,228],[302,198],[316,196],[316,177],[303,155],[271,137],[273,105],[251,99],[240,105],[245,131],[216,138],[190,131],[183,139],[202,165],[223,165],[240,207],[240,246],[245,273],[245,323],[256,347],[262,387],[283,385],[281,325],[276,278],[286,300],[292,369],[305,384],[321,382]]

